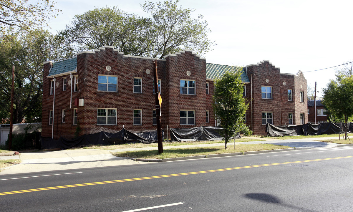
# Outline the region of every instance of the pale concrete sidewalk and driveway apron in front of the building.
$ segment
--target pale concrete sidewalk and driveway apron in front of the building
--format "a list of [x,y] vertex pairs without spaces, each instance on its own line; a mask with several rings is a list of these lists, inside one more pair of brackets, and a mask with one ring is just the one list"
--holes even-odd
[[[334,143],[325,143],[314,140],[338,139],[339,137],[326,138],[305,138],[305,139],[287,139],[287,140],[265,140],[265,141],[248,141],[236,142],[239,144],[276,144],[283,146],[290,146],[296,150],[305,149],[327,149],[337,146],[346,146]],[[227,146],[231,148],[233,142],[229,142]],[[351,146],[353,144],[348,144]],[[191,147],[212,147],[224,146],[224,143],[219,144],[194,144],[181,146],[164,146],[163,149],[177,149],[177,148],[191,148]],[[116,150],[61,150],[61,151],[47,151],[47,152],[24,152],[13,156],[0,156],[0,160],[4,159],[20,159],[22,162],[17,165],[10,166],[0,172],[0,175],[17,174],[26,172],[52,171],[52,170],[68,170],[93,168],[102,166],[116,166],[116,165],[131,165],[142,164],[149,162],[134,161],[127,158],[115,157],[114,152],[136,151],[136,150],[158,150],[158,147],[143,147],[143,148],[129,148]],[[288,149],[287,149],[288,150]],[[283,151],[287,151],[283,150]],[[222,155],[219,155],[220,157]]]

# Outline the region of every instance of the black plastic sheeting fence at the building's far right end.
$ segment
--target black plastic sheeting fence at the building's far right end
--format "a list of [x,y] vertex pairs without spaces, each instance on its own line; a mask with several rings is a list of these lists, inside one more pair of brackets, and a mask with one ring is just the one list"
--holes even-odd
[[[342,127],[341,127],[342,126]],[[343,128],[343,130],[342,130]],[[298,135],[321,135],[339,134],[346,131],[345,123],[307,123],[304,125],[274,126],[269,123],[266,131],[269,136],[298,136]],[[347,133],[353,132],[353,122],[347,123]]]

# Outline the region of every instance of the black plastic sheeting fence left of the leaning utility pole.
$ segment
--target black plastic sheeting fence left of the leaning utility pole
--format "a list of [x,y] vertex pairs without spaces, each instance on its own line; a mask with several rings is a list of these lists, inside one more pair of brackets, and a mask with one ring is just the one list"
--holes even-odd
[[[162,138],[164,132],[162,131]],[[60,137],[59,140],[42,137],[41,149],[68,149],[74,146],[88,145],[114,145],[126,143],[156,143],[157,131],[149,131],[142,133],[132,133],[123,128],[117,133],[98,132],[94,134],[84,134],[76,139],[65,139]]]

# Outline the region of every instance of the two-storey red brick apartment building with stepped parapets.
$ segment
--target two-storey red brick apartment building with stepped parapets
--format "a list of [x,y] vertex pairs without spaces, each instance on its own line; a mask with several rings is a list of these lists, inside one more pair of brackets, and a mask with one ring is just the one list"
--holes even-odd
[[[106,46],[45,62],[42,136],[73,138],[75,132],[116,132],[123,126],[133,131],[156,129],[155,60]],[[266,60],[244,68],[206,63],[190,50],[157,59],[157,70],[164,130],[215,126],[213,81],[226,70],[242,72],[244,95],[250,103],[246,124],[255,134],[265,134],[266,122],[307,123],[306,80],[301,72],[280,73]]]

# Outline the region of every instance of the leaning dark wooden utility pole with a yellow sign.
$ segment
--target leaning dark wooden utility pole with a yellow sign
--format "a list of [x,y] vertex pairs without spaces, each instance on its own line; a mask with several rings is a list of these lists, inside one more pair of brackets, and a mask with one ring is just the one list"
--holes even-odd
[[154,61],[153,78],[155,86],[155,102],[156,102],[156,121],[157,121],[157,138],[158,138],[158,153],[163,153],[162,126],[161,126],[161,102],[160,93],[158,90],[158,74],[157,74],[157,59]]

